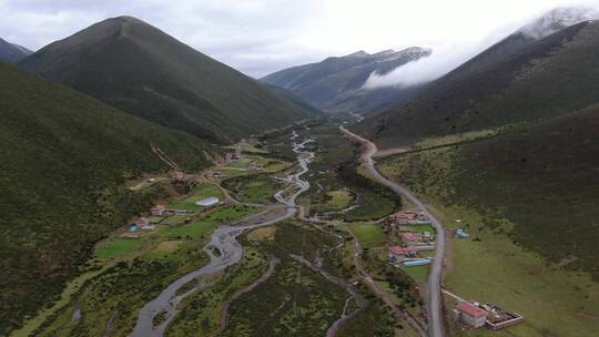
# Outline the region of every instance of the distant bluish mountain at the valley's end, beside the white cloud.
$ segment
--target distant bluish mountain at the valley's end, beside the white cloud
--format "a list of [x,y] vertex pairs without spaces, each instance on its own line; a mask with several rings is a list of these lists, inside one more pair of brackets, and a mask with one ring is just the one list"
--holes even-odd
[[309,104],[331,113],[365,111],[407,98],[413,90],[398,88],[363,89],[370,74],[386,74],[397,67],[430,55],[432,50],[413,47],[369,54],[358,51],[328,58],[318,63],[285,69],[261,79],[285,88]]

